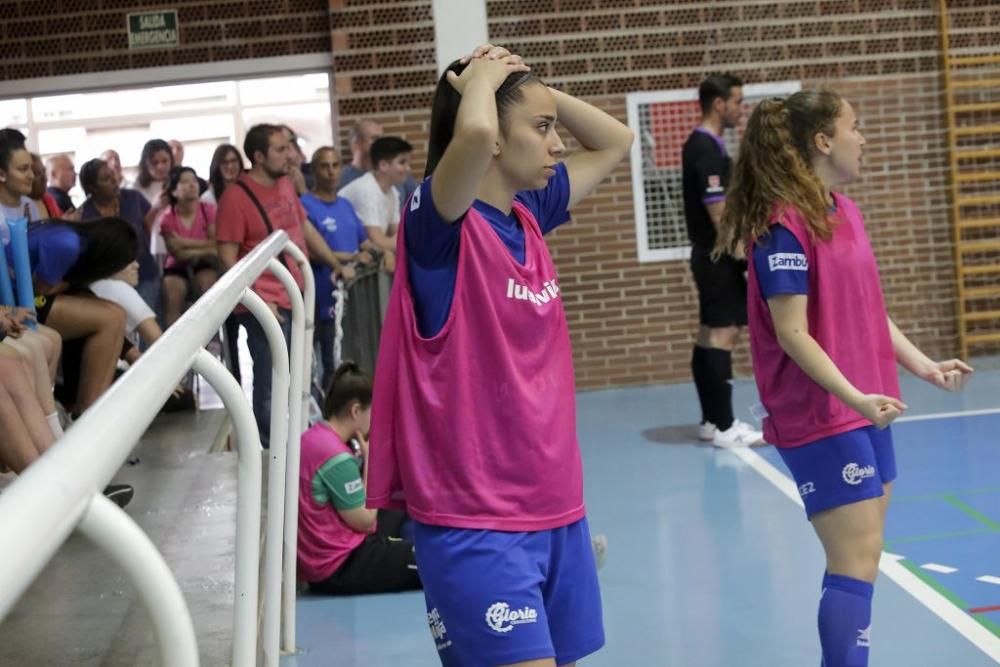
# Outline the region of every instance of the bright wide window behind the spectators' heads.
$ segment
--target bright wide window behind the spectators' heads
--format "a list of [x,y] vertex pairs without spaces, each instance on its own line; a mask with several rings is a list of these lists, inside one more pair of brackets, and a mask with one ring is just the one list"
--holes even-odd
[[[275,94],[280,91],[280,94]],[[247,128],[256,123],[292,127],[308,159],[320,146],[333,145],[329,75],[161,85],[28,99],[0,100],[0,127],[28,136],[42,159],[65,153],[77,169],[109,148],[118,151],[126,183],[138,173],[142,146],[154,138],[184,144],[184,164],[208,178],[215,147],[241,149]],[[80,204],[79,186],[70,191]]]

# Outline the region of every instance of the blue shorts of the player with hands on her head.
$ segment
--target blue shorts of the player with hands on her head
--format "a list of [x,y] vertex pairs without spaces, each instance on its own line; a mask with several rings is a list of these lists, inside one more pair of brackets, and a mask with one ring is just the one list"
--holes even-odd
[[565,665],[604,645],[586,519],[527,533],[414,524],[427,622],[445,667]]

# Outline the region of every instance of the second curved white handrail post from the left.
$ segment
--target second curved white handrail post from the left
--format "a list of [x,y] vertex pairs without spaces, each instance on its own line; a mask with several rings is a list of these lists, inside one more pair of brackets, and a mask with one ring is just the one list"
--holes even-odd
[[260,433],[246,394],[233,374],[205,349],[192,368],[222,399],[236,433],[236,577],[233,599],[233,667],[253,667],[257,654],[260,575]]

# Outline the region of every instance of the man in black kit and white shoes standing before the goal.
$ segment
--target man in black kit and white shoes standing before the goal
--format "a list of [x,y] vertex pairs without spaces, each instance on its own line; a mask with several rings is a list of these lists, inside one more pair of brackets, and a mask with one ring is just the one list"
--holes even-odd
[[722,133],[739,123],[743,82],[715,74],[698,87],[701,124],[681,153],[684,218],[691,240],[691,272],[698,286],[698,338],[691,372],[701,403],[698,438],[716,447],[748,447],[762,434],[733,416],[733,347],[747,323],[745,259],[712,261],[716,228],[726,205],[732,160]]

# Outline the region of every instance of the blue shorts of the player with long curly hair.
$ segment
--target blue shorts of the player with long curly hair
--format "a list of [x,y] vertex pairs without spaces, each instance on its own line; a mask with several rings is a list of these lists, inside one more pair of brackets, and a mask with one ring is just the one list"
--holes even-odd
[[892,431],[875,426],[838,433],[800,447],[779,447],[792,473],[806,516],[878,498],[896,479]]

